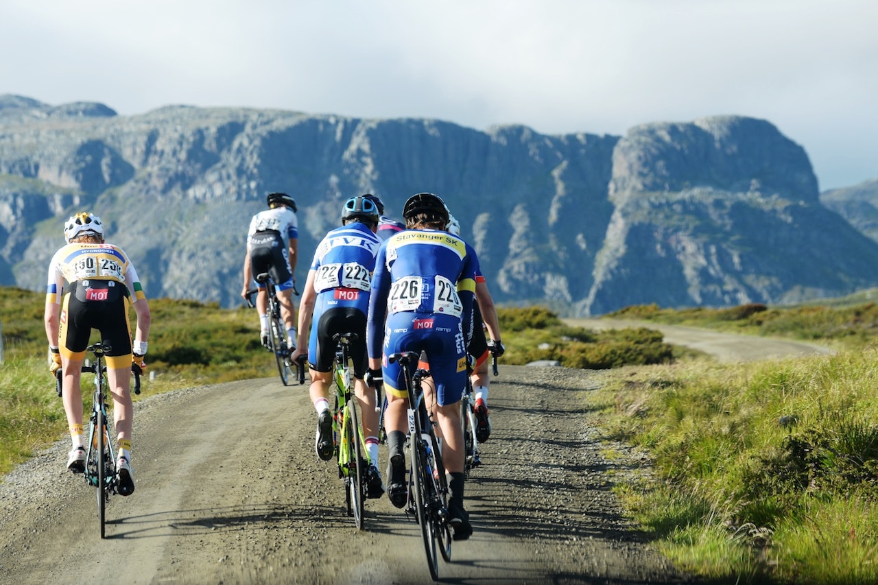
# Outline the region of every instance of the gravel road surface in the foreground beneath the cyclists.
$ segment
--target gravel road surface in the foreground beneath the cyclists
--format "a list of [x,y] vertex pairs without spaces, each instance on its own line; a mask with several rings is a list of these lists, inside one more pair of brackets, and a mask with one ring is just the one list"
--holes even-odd
[[[493,434],[466,487],[474,534],[441,561],[444,582],[694,582],[610,492],[643,461],[623,445],[605,457],[584,401],[599,384],[596,372],[500,367]],[[137,489],[113,497],[104,540],[95,490],[64,469],[68,440],[4,477],[0,582],[430,581],[418,526],[386,497],[366,502],[363,531],[345,515],[334,464],[314,454],[306,386],[198,386],[139,401],[135,412]],[[382,470],[384,459],[382,448]]]

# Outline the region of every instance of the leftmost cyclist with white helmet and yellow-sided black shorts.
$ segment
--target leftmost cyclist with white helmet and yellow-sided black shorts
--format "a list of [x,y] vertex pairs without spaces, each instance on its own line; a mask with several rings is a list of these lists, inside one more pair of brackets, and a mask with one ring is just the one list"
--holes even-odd
[[[106,364],[119,446],[119,494],[131,495],[131,365],[134,362],[146,368],[143,357],[147,353],[149,305],[128,256],[119,247],[104,242],[104,224],[97,215],[76,213],[70,217],[64,224],[64,239],[67,244],[49,263],[44,321],[52,356],[49,369],[53,374],[61,369],[61,395],[73,443],[67,468],[73,473],[85,471],[79,380],[91,329],[98,329],[101,339],[112,347],[106,354]],[[128,323],[132,302],[137,315],[133,343]]]

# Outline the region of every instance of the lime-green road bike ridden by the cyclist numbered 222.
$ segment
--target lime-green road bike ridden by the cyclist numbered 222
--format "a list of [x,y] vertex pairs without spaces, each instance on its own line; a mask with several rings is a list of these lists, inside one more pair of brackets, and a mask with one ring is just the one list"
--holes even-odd
[[[335,408],[333,409],[333,436],[335,438],[335,458],[338,462],[338,476],[344,481],[345,503],[348,516],[354,516],[356,530],[363,529],[363,500],[368,491],[367,477],[374,463],[369,458],[369,450],[360,429],[356,415],[356,394],[353,374],[350,369],[350,343],[358,339],[356,333],[336,333],[333,359],[333,379],[335,380]],[[378,392],[378,390],[376,390]],[[376,394],[378,396],[378,394]],[[377,399],[376,404],[380,401]]]

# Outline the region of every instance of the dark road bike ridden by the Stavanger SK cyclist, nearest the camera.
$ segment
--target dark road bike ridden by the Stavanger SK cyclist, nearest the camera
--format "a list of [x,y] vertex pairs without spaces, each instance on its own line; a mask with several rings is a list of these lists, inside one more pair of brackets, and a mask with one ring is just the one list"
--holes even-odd
[[394,353],[387,357],[399,362],[405,372],[408,392],[408,502],[407,515],[413,515],[421,526],[421,538],[430,576],[439,580],[438,550],[446,562],[451,560],[451,525],[448,513],[448,479],[442,460],[442,444],[436,435],[437,422],[424,402],[424,379],[430,376],[427,356],[414,351]]

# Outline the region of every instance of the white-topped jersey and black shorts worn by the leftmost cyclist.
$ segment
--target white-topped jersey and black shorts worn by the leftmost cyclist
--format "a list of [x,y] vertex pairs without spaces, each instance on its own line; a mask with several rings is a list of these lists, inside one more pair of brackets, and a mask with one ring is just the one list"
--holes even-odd
[[[65,288],[65,283],[69,285]],[[69,243],[49,263],[46,300],[61,305],[59,350],[68,359],[82,359],[91,329],[109,343],[107,364],[125,367],[131,361],[129,300],[145,299],[137,271],[125,252],[108,243]]]

